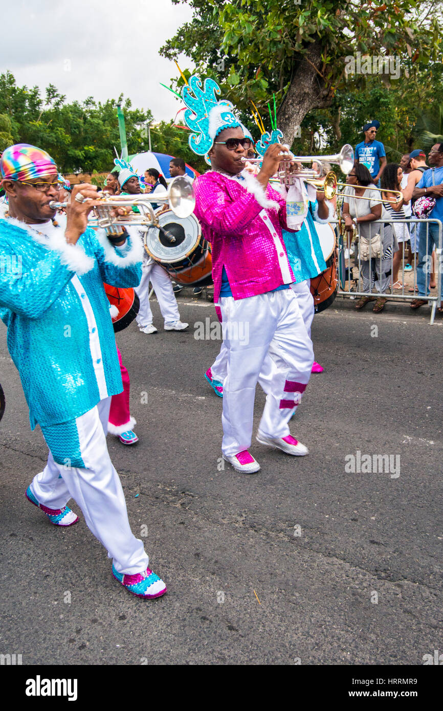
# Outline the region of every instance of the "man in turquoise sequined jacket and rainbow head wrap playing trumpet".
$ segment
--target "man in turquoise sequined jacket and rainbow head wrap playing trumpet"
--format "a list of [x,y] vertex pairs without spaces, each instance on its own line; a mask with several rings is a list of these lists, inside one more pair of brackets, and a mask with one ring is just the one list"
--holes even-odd
[[74,498],[113,559],[114,577],[139,597],[158,597],[166,586],[129,527],[106,445],[110,399],[122,392],[122,378],[103,282],[139,282],[140,241],[124,230],[112,243],[87,226],[97,204],[97,188],[87,183],[73,187],[66,217],[53,224],[50,203],[62,183],[53,159],[36,146],[10,146],[0,172],[9,198],[0,219],[0,316],[31,429],[40,425],[49,449],[26,498],[63,527],[78,521],[67,506]]

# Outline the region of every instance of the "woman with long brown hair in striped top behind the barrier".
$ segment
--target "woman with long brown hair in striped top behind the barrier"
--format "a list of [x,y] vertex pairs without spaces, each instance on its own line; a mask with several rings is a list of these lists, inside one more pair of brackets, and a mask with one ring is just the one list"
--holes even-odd
[[[394,202],[396,196],[390,192],[393,190],[400,191],[403,171],[397,163],[388,163],[381,176],[381,186],[383,188],[383,215],[385,220],[406,220],[405,201],[400,198],[400,201]],[[407,203],[406,203],[407,204]],[[393,225],[395,237],[399,244],[399,250],[395,252],[393,257],[393,289],[403,289],[404,284],[398,279],[398,270],[400,264],[405,257],[405,242],[410,240],[410,233],[405,222]]]

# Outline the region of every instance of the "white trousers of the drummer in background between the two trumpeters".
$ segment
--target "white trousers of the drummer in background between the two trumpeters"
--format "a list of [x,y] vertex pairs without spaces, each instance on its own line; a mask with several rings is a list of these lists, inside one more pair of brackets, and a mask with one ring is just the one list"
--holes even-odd
[[152,311],[148,298],[149,282],[154,287],[165,326],[166,324],[174,324],[174,321],[179,321],[180,314],[178,314],[177,300],[172,288],[171,277],[160,264],[154,262],[153,264],[143,265],[142,279],[135,289],[140,299],[140,309],[136,318],[139,327],[144,328],[144,326],[149,326],[152,323]]

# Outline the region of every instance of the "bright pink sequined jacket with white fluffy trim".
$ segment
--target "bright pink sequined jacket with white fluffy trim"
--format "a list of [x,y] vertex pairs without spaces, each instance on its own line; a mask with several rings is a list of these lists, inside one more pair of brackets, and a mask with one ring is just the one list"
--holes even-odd
[[288,230],[284,198],[269,186],[265,193],[250,173],[242,175],[243,180],[208,171],[193,183],[194,212],[212,245],[215,304],[223,266],[234,299],[296,281],[282,238],[282,228]]

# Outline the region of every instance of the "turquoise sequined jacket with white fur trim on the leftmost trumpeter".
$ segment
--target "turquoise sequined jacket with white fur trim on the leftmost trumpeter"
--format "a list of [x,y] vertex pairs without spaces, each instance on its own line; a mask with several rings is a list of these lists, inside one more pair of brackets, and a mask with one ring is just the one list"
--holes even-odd
[[110,304],[103,282],[135,287],[139,235],[112,247],[103,230],[68,245],[17,220],[0,220],[0,316],[20,374],[31,429],[80,417],[122,392]]

